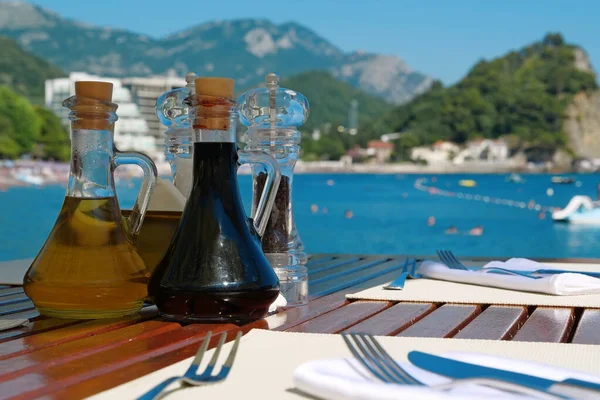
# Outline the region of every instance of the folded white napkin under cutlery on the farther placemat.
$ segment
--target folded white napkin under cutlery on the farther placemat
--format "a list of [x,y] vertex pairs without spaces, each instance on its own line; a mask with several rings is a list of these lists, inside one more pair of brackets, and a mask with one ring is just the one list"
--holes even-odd
[[[499,263],[499,261],[492,261],[492,263]],[[486,266],[489,266],[492,263],[489,263]],[[527,268],[524,270],[531,270],[530,263],[522,263],[521,268],[524,268],[523,265],[527,265]],[[495,264],[494,266],[500,265]],[[502,268],[509,267],[506,263],[502,263]],[[509,269],[512,269],[512,267]],[[419,272],[427,278],[444,281],[491,286],[523,292],[546,293],[557,296],[600,293],[600,279],[575,273],[555,274],[544,278],[531,279],[515,275],[450,269],[446,265],[435,261],[424,261],[419,267]]]

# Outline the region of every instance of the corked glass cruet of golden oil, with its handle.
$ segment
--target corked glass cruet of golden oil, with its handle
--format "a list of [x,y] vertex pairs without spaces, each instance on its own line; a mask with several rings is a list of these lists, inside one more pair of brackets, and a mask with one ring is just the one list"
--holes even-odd
[[[76,82],[63,102],[71,112],[71,167],[58,219],[24,278],[38,311],[60,318],[114,318],[137,312],[149,273],[135,247],[156,166],[114,146],[117,104],[112,84]],[[113,171],[135,164],[144,179],[127,219],[119,209]]]

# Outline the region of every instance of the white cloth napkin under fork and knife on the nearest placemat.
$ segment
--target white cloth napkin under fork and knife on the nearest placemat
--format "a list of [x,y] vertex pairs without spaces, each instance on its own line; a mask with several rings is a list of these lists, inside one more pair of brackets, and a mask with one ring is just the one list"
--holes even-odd
[[[445,353],[444,357],[505,369],[553,380],[583,379],[600,383],[600,377],[544,364],[517,361],[478,353]],[[415,367],[399,363],[417,380],[426,385],[448,383],[451,380]],[[426,386],[386,384],[374,378],[354,359],[316,360],[300,365],[294,371],[297,389],[326,400],[442,400],[442,399],[528,399],[525,395],[502,392],[489,387],[464,384],[449,391],[439,391]]]

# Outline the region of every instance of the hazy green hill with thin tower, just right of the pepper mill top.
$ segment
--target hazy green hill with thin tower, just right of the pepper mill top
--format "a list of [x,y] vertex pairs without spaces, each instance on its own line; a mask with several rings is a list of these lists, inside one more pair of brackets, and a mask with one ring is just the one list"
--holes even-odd
[[[392,107],[378,97],[338,81],[325,71],[295,75],[281,81],[281,86],[302,93],[310,101],[310,117],[301,128],[305,158],[339,158],[358,140],[358,137],[337,131],[339,125],[348,126],[353,100],[358,102],[359,125],[367,124]],[[316,141],[310,135],[314,129],[321,131],[321,138]]]

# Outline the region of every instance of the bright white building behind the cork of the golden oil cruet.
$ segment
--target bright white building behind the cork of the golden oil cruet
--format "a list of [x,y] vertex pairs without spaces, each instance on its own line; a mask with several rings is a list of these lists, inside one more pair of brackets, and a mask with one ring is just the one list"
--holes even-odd
[[113,84],[113,102],[119,105],[119,120],[115,124],[115,145],[119,150],[135,150],[153,158],[162,157],[162,151],[157,150],[156,139],[148,134],[148,124],[142,118],[137,104],[132,101],[131,93],[116,78],[73,72],[67,78],[46,80],[46,107],[58,115],[65,126],[70,124],[69,110],[62,106],[62,102],[75,94],[76,81],[105,81]]

